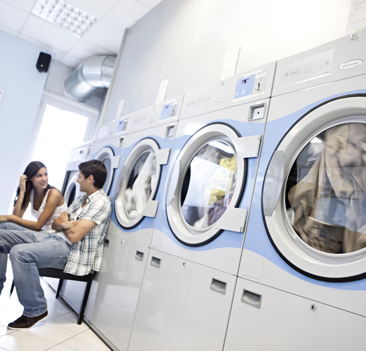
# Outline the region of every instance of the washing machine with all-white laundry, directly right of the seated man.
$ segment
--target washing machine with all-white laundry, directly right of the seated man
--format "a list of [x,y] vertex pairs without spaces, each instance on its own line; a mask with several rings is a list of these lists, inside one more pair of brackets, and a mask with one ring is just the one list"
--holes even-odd
[[183,94],[131,114],[112,195],[103,267],[86,318],[127,350]]

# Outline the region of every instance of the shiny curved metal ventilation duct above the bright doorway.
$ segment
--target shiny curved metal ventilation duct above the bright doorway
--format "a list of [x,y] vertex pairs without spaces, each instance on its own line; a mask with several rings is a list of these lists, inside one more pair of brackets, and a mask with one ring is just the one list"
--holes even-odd
[[97,88],[108,88],[115,62],[115,56],[97,55],[87,58],[65,79],[66,93],[83,101]]

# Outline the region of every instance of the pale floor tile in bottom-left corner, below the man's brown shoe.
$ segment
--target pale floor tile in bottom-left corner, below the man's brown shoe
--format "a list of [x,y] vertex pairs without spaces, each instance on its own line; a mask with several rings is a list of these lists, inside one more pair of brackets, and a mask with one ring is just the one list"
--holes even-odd
[[16,331],[0,337],[0,345],[8,351],[44,351],[55,343]]

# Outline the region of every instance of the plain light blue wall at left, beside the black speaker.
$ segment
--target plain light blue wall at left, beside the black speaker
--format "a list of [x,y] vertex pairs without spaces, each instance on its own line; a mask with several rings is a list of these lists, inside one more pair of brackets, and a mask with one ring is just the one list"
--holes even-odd
[[7,213],[26,166],[47,78],[47,73],[36,69],[41,51],[36,45],[0,31],[0,88],[5,89],[0,105],[0,214]]

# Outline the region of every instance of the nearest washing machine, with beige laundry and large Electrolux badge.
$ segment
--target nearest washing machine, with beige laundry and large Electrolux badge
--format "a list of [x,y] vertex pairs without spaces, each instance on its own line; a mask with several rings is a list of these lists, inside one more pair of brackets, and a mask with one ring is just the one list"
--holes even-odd
[[224,350],[365,347],[363,61],[366,31],[277,63]]

